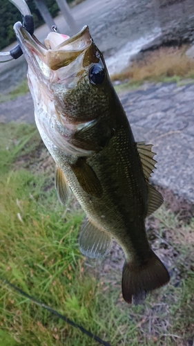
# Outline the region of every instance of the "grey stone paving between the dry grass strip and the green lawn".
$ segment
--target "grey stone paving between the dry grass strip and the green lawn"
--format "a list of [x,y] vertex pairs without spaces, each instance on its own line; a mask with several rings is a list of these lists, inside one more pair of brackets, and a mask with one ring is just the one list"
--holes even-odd
[[[144,84],[120,95],[135,140],[153,144],[153,182],[194,202],[194,84]],[[34,122],[30,94],[0,104],[0,122]]]

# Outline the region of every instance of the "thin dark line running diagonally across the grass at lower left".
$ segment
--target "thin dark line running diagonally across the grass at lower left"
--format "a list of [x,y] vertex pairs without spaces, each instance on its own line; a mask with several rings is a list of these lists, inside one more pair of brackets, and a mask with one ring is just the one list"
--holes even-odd
[[8,280],[3,279],[3,277],[0,277],[0,280],[5,282],[6,284],[8,284],[15,291],[21,293],[21,295],[23,295],[24,297],[32,300],[32,302],[34,302],[35,304],[39,305],[39,307],[43,307],[43,309],[46,309],[46,310],[50,311],[50,313],[53,313],[57,317],[61,318],[61,320],[66,321],[72,327],[75,327],[75,328],[81,330],[82,333],[88,335],[90,338],[92,338],[93,340],[97,341],[97,343],[99,343],[101,345],[104,345],[104,346],[111,346],[109,343],[107,343],[106,341],[102,340],[98,336],[95,336],[93,333],[91,333],[90,331],[86,330],[84,327],[81,327],[80,325],[77,325],[77,323],[73,322],[68,317],[66,317],[64,315],[61,315],[61,313],[55,311],[54,309],[52,309],[52,307],[48,307],[48,305],[43,304],[42,302],[39,302],[39,300],[37,300],[34,297],[32,297],[32,295],[29,295],[28,293],[24,292],[22,289],[19,289],[19,287],[14,286],[14,284],[11,284],[11,282],[9,282]]

